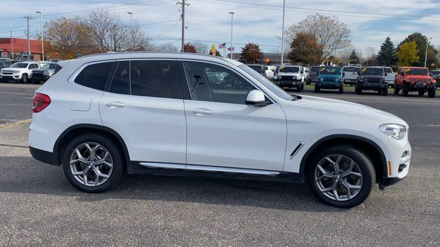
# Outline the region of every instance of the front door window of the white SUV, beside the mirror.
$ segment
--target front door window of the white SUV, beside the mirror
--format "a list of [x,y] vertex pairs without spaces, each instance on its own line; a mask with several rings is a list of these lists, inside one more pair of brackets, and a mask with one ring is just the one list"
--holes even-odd
[[186,80],[193,100],[246,104],[254,86],[230,69],[202,62],[184,62]]

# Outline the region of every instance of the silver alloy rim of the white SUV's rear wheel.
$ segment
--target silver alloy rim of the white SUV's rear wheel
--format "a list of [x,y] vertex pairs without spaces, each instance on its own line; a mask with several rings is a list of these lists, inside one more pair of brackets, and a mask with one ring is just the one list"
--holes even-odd
[[110,178],[113,158],[109,150],[99,143],[82,143],[72,152],[69,167],[79,183],[96,187]]

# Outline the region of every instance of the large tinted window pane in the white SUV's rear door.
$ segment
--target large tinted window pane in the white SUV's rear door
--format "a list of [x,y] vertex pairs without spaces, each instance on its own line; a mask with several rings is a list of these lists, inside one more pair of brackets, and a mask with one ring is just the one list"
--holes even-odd
[[133,60],[130,77],[131,95],[183,98],[176,61]]

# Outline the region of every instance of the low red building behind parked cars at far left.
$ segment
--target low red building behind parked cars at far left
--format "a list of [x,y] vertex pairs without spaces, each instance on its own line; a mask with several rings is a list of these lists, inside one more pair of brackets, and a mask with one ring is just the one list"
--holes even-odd
[[[0,38],[1,58],[28,58],[28,40],[25,38]],[[40,61],[42,57],[41,41],[30,40],[30,58]]]

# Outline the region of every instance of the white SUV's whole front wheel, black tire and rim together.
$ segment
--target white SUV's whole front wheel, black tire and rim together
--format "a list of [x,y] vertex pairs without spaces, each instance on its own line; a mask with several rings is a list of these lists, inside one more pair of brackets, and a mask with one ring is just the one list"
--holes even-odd
[[[326,157],[338,163],[339,172],[334,172],[336,167]],[[354,162],[353,167],[351,161]],[[306,169],[311,191],[320,201],[333,207],[351,208],[362,204],[369,197],[376,180],[370,158],[362,150],[349,145],[336,145],[321,150],[312,156]],[[355,174],[348,174],[349,171]],[[332,190],[322,191],[333,186],[336,187],[336,193]]]

